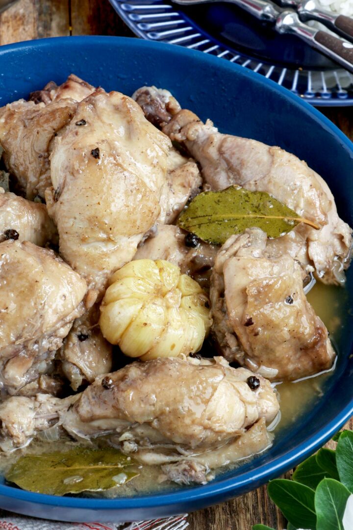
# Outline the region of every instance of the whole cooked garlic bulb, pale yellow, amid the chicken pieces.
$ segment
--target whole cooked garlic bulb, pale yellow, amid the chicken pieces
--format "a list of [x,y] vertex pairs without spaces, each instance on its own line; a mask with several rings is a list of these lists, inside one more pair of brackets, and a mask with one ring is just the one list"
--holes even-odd
[[129,357],[176,357],[200,350],[211,325],[207,306],[201,287],[173,263],[130,261],[112,276],[99,325]]

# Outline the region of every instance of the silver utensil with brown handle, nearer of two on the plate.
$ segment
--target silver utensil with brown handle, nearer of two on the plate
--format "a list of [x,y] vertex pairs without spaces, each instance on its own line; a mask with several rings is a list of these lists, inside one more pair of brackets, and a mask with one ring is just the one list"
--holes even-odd
[[[218,0],[173,0],[180,5],[208,4]],[[292,33],[353,73],[353,44],[331,32],[313,28],[299,19],[296,11],[282,9],[265,0],[225,0],[241,7],[258,20],[274,25],[278,33]],[[282,1],[282,0],[281,0]],[[290,1],[290,0],[289,0]],[[293,0],[295,2],[295,0]]]

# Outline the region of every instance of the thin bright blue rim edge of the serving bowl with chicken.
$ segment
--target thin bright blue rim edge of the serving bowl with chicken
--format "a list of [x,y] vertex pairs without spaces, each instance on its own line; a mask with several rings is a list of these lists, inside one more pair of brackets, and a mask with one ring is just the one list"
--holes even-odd
[[[352,153],[353,157],[353,143],[349,138],[342,133],[342,131],[334,125],[328,118],[326,118],[319,110],[316,110],[306,101],[298,98],[297,95],[291,93],[284,87],[277,85],[274,81],[267,79],[252,70],[247,70],[241,66],[228,61],[220,61],[218,57],[203,54],[197,50],[191,50],[176,45],[169,45],[167,43],[152,42],[146,40],[140,40],[130,37],[110,37],[110,36],[75,36],[75,37],[51,37],[47,39],[38,39],[32,41],[16,42],[14,44],[2,46],[0,48],[0,56],[7,52],[15,52],[17,50],[26,49],[42,49],[50,48],[54,43],[60,42],[61,47],[71,46],[85,46],[85,45],[117,45],[128,46],[130,48],[144,48],[146,50],[159,50],[168,49],[171,54],[175,54],[179,57],[185,57],[191,55],[198,57],[199,60],[209,64],[210,67],[218,66],[220,69],[234,71],[248,78],[255,79],[255,81],[262,86],[268,86],[271,90],[274,90],[278,95],[282,95],[284,98],[292,101],[298,107],[302,107],[308,114],[311,114],[315,121],[321,122],[327,129],[330,129],[338,139],[342,146],[345,145]],[[266,90],[266,89],[265,89]],[[285,455],[275,457],[269,463],[260,465],[255,470],[247,471],[242,475],[238,476],[236,481],[234,478],[227,478],[217,482],[211,482],[207,485],[197,486],[194,488],[180,489],[175,492],[167,493],[152,493],[144,496],[136,497],[123,497],[117,499],[96,499],[90,498],[78,498],[78,497],[57,497],[53,495],[46,495],[42,493],[33,493],[30,491],[24,491],[11,486],[0,484],[0,495],[8,498],[15,498],[22,501],[32,502],[34,504],[42,504],[47,506],[58,506],[61,507],[73,507],[90,510],[119,510],[129,508],[150,508],[162,507],[162,506],[175,506],[177,504],[190,504],[192,501],[202,501],[222,495],[230,497],[233,494],[241,494],[245,491],[249,491],[251,485],[256,482],[256,485],[264,484],[274,476],[278,476],[299,462],[303,461],[307,456],[314,453],[319,449],[326,441],[328,441],[335,432],[337,432],[349,418],[353,415],[353,397],[341,410],[338,416],[330,421],[327,425],[322,427],[316,434],[311,435],[308,439],[304,440],[301,444],[298,444],[294,449],[288,451]]]

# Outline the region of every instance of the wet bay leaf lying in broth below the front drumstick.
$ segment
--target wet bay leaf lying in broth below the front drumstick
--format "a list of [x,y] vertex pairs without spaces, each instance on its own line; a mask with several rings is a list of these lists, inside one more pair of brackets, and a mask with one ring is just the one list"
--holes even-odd
[[36,493],[65,495],[104,491],[137,476],[134,461],[112,447],[75,447],[66,452],[25,455],[11,467],[5,479]]

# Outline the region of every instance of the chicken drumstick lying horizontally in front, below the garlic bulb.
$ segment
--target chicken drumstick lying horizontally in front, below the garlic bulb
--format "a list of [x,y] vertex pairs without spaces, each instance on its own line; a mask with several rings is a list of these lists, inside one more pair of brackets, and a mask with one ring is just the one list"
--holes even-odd
[[278,413],[277,396],[266,379],[252,385],[249,377],[223,358],[135,362],[64,400],[20,398],[22,418],[17,398],[8,399],[0,405],[0,447],[12,451],[53,426],[77,439],[111,434],[125,454],[164,466],[164,478],[204,483],[210,469],[271,445],[266,422]]

